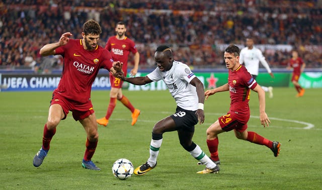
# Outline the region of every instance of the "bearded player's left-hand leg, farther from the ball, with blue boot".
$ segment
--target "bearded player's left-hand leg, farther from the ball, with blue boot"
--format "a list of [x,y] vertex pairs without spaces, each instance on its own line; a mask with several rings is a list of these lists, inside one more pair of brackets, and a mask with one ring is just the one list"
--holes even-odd
[[39,167],[47,156],[50,148],[50,141],[56,133],[56,127],[64,117],[65,114],[59,104],[52,104],[49,107],[48,120],[44,126],[42,146],[33,159],[33,165],[35,167]]

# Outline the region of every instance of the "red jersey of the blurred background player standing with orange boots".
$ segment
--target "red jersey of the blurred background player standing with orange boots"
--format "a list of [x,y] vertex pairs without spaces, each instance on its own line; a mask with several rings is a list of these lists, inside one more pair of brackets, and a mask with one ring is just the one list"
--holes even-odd
[[114,61],[120,61],[123,63],[122,70],[126,76],[129,54],[130,52],[133,54],[137,52],[135,43],[128,37],[125,37],[123,40],[119,40],[116,36],[112,36],[106,42],[105,49],[111,52]]

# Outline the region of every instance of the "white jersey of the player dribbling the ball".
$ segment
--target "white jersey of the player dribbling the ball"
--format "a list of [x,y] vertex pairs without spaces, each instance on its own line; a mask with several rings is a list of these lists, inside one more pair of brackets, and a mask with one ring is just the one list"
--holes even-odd
[[147,77],[153,81],[163,80],[177,105],[185,110],[198,109],[198,96],[196,87],[189,84],[196,77],[188,65],[173,61],[170,70],[162,72],[157,67]]

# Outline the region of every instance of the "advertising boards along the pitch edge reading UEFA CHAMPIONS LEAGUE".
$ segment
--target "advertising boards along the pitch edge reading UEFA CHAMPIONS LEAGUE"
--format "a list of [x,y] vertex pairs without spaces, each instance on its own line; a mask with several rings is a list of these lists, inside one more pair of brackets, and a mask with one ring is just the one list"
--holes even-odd
[[[151,70],[139,70],[136,76],[145,76]],[[40,91],[54,90],[61,76],[61,71],[56,71],[51,74],[36,74],[36,73],[19,73],[19,72],[2,72],[0,73],[1,88],[5,91]],[[207,69],[194,70],[195,75],[203,82],[205,88],[215,88],[227,82],[228,73],[226,69]],[[263,86],[287,87],[293,86],[290,79],[291,71],[285,69],[274,70],[274,78],[265,72],[260,71],[257,76],[257,82]],[[322,87],[322,70],[307,70],[301,74],[299,83],[304,88],[321,88]],[[128,90],[165,90],[167,89],[163,81],[152,82],[146,85],[137,86],[124,83],[123,88]],[[99,72],[93,86],[93,90],[109,90],[111,89],[109,73],[107,71]]]

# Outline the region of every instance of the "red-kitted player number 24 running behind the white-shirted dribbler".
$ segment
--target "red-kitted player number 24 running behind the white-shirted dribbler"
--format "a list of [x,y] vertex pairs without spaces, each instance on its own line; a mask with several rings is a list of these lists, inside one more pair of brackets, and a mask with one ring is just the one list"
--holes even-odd
[[[281,144],[272,142],[259,134],[247,131],[247,122],[250,118],[249,98],[250,89],[258,93],[260,120],[265,127],[269,126],[270,120],[265,113],[265,92],[256,82],[246,67],[239,63],[239,48],[229,45],[224,52],[224,60],[228,69],[228,83],[205,92],[206,99],[216,92],[228,91],[230,94],[230,109],[224,116],[210,125],[207,129],[207,146],[211,159],[219,162],[218,157],[218,134],[233,130],[238,139],[247,140],[252,143],[265,145],[270,148],[277,157]],[[200,164],[200,163],[199,163]],[[204,170],[205,173],[207,172]]]

